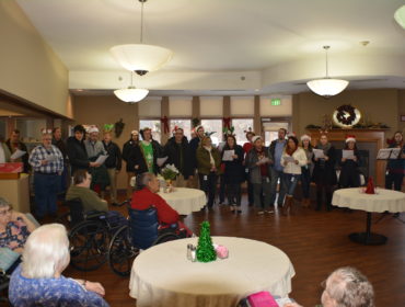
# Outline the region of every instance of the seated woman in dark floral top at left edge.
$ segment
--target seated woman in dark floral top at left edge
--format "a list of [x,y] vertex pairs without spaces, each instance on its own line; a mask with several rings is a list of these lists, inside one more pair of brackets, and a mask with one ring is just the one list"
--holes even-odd
[[[30,234],[35,225],[25,214],[13,211],[12,205],[0,197],[0,248],[8,248],[16,253],[22,253]],[[11,266],[8,272],[11,272]]]

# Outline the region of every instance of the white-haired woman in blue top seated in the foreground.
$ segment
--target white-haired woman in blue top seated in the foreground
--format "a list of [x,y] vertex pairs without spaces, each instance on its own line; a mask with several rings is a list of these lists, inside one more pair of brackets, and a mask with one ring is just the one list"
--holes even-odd
[[13,306],[108,306],[100,283],[65,277],[70,261],[65,226],[48,224],[35,229],[23,251],[22,264],[11,275]]

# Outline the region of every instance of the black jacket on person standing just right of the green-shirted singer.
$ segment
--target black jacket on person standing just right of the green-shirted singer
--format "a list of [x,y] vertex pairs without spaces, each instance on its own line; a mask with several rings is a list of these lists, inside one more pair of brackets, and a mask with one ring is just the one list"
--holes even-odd
[[[171,137],[163,149],[163,157],[167,157],[166,164],[174,164],[176,169],[183,174],[184,179],[193,175],[192,170],[192,155],[186,137],[183,137],[182,144],[177,145],[174,137]],[[183,163],[181,163],[181,157]]]

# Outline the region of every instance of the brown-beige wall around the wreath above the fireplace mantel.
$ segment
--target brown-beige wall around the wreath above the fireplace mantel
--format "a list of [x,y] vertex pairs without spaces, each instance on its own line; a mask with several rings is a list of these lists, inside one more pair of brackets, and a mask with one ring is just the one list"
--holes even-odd
[[339,105],[351,104],[358,107],[368,121],[390,126],[391,129],[386,132],[390,136],[400,127],[405,127],[398,120],[400,107],[405,114],[404,92],[395,89],[354,90],[344,91],[327,100],[311,92],[296,94],[292,102],[292,127],[301,135],[305,133],[305,126],[309,124],[322,125],[324,114],[332,114]]

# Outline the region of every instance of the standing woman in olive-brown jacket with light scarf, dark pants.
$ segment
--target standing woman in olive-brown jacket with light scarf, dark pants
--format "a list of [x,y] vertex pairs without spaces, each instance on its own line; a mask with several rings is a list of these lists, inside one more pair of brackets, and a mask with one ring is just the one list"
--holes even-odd
[[218,174],[220,173],[221,156],[217,148],[212,147],[211,138],[206,136],[201,139],[196,152],[197,168],[200,189],[208,197],[208,208],[212,208],[216,197]]

